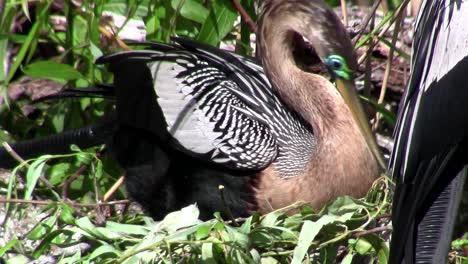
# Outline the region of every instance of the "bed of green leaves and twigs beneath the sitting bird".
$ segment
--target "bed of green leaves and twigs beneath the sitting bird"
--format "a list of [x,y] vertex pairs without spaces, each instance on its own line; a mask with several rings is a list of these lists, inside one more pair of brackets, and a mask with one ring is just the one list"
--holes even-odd
[[[90,165],[83,177],[94,178],[95,182],[102,179],[103,166],[93,151],[68,156]],[[24,188],[16,188],[11,177],[9,193],[21,194],[25,203],[30,201],[32,190],[40,196],[44,191],[38,187],[40,175],[51,158],[63,156],[43,156],[32,162]],[[54,180],[58,174],[45,173],[57,185],[62,182]],[[191,205],[158,223],[132,213],[116,214],[102,221],[102,212],[114,204],[91,203],[95,212],[86,215],[85,201],[64,201],[52,190],[56,198],[44,201],[41,220],[22,236],[10,230],[12,237],[0,254],[16,252],[11,263],[41,256],[58,263],[351,263],[353,257],[375,256],[378,263],[386,263],[389,184],[387,178],[381,177],[365,199],[342,197],[320,212],[295,204],[247,219],[226,221],[215,214],[213,220],[202,222],[198,220],[198,209]],[[7,209],[7,221],[28,215],[24,204],[11,207]],[[25,239],[32,244],[23,244]]]

